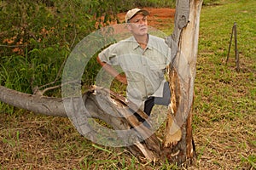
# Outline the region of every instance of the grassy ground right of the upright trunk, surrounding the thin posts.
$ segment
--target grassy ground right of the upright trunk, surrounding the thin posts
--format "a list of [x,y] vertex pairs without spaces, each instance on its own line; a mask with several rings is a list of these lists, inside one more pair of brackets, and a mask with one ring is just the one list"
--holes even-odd
[[[194,105],[200,167],[255,168],[255,8],[255,1],[221,1],[201,11]],[[240,72],[234,37],[225,64],[235,22]]]

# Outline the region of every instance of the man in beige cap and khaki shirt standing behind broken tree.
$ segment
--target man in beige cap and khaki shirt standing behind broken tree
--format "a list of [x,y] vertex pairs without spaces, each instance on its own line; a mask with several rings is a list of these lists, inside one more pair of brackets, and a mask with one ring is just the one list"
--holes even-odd
[[[148,14],[144,9],[129,10],[125,23],[132,37],[104,49],[97,61],[115,79],[127,84],[127,99],[149,116],[154,104],[170,103],[170,88],[164,75],[171,61],[171,49],[164,39],[148,34]],[[125,76],[119,74],[115,65],[121,67]]]

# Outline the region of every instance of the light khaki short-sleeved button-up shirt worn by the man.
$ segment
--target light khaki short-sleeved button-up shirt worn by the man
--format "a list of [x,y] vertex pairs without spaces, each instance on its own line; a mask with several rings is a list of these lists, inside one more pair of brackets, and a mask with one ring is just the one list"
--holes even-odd
[[143,49],[135,37],[130,37],[104,49],[99,58],[125,72],[127,98],[133,103],[143,105],[149,96],[162,97],[166,65],[171,62],[171,48],[164,39],[149,35],[148,46]]

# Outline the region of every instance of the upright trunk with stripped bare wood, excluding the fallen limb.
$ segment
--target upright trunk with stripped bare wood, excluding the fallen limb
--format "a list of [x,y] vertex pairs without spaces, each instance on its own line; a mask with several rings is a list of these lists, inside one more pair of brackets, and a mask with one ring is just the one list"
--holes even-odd
[[164,146],[178,152],[177,162],[180,163],[195,158],[192,105],[201,4],[201,0],[177,1],[174,31],[166,39],[174,59],[168,68],[172,99],[167,114]]

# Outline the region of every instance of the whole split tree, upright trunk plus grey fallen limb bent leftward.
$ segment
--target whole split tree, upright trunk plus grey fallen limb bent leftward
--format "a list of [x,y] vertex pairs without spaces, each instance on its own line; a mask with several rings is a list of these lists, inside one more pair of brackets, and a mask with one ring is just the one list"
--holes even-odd
[[[148,161],[166,161],[167,158],[168,161],[178,164],[191,162],[195,159],[191,123],[201,4],[202,0],[178,0],[175,28],[172,35],[166,38],[166,43],[172,48],[173,58],[172,65],[168,68],[172,99],[168,107],[166,136],[162,144],[147,126],[137,121],[132,108],[129,108],[131,105],[128,107],[124,97],[104,88],[90,88],[82,99],[59,99],[23,94],[0,86],[0,101],[44,115],[69,116],[79,133],[93,142],[104,144],[104,139],[113,139],[116,144],[113,133],[107,132],[102,138],[97,136],[98,132],[93,127],[96,124],[91,124],[90,119],[100,119],[114,130],[119,130],[120,146],[126,144],[136,156],[143,156]],[[98,99],[103,101],[101,105]],[[75,115],[76,112],[82,112],[83,115]],[[148,118],[143,111],[137,111],[137,114]],[[125,130],[129,130],[129,133],[124,134]],[[127,138],[127,134],[131,136]],[[127,140],[130,137],[133,139],[132,144]]]

